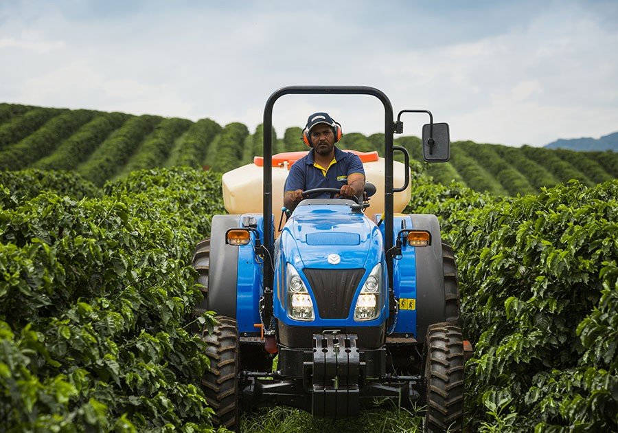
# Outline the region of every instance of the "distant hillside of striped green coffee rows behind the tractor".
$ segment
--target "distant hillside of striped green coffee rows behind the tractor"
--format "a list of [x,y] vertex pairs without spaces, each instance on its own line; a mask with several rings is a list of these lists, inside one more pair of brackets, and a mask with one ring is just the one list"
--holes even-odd
[[[299,127],[273,137],[274,153],[306,150]],[[261,155],[261,140],[262,126],[250,133],[238,122],[222,127],[209,119],[0,104],[1,170],[76,170],[97,186],[141,168],[188,165],[225,173]],[[341,147],[374,151],[383,142],[380,133],[346,133]],[[398,137],[396,144],[420,159],[416,137]],[[433,164],[429,173],[442,184],[455,180],[477,192],[516,196],[570,179],[586,186],[615,179],[618,154],[455,142],[450,162]]]

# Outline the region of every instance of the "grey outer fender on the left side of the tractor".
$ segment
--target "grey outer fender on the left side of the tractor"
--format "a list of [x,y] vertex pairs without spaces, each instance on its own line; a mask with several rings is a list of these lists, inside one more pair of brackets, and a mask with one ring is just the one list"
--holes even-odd
[[225,243],[227,230],[240,227],[240,215],[214,215],[211,223],[207,306],[236,319],[238,247]]

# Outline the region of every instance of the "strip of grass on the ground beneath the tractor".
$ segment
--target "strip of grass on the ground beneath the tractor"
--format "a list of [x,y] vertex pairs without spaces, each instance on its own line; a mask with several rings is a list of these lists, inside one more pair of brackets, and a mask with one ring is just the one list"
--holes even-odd
[[423,416],[419,410],[375,408],[365,410],[356,418],[318,419],[302,410],[276,407],[262,408],[241,418],[243,433],[402,433],[422,432]]

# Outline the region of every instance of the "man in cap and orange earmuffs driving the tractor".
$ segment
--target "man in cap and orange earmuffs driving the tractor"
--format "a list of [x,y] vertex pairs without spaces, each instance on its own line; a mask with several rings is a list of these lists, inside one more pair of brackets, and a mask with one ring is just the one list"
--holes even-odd
[[[362,198],[365,170],[361,159],[341,151],[334,144],[341,139],[341,124],[328,113],[309,116],[303,130],[303,142],[309,153],[290,168],[284,188],[284,206],[294,210],[304,198],[303,192],[314,188],[338,188],[341,197]],[[328,193],[313,198],[328,198]]]

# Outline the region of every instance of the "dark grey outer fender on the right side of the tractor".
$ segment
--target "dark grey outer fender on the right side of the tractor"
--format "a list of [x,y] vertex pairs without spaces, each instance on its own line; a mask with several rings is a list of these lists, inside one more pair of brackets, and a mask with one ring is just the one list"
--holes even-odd
[[428,230],[431,234],[431,245],[416,248],[416,339],[424,342],[429,325],[446,322],[442,237],[435,215],[409,216],[414,229]]

